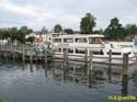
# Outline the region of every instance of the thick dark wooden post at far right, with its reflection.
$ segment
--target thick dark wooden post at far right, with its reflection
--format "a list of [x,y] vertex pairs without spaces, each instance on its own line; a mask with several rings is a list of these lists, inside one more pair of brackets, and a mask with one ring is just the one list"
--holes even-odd
[[127,86],[128,86],[128,54],[123,54],[123,95],[127,95]]

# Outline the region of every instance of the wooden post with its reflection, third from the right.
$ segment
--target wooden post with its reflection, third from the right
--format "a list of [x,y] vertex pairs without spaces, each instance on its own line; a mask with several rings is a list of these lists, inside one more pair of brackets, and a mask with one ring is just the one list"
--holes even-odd
[[89,88],[92,86],[92,71],[93,71],[93,55],[90,50],[90,67],[89,67]]

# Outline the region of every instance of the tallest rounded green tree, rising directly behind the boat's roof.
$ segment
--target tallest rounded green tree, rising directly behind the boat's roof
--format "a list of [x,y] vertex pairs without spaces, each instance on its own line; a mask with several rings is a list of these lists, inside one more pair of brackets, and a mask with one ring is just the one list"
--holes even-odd
[[80,22],[80,31],[82,34],[90,34],[93,32],[93,27],[95,26],[95,18],[91,13],[87,13],[84,18],[81,19]]

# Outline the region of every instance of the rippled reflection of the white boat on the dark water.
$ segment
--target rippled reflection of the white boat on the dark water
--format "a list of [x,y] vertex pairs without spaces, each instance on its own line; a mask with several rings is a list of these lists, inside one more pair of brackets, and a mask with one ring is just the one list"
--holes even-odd
[[[37,65],[37,69],[39,65]],[[122,75],[111,72],[109,73],[106,69],[99,68],[98,70],[92,70],[89,72],[88,67],[85,66],[77,66],[77,65],[68,65],[64,66],[64,64],[53,64],[46,65],[43,67],[45,70],[45,77],[52,78],[55,81],[68,81],[75,83],[84,83],[84,84],[94,84],[103,83],[105,81],[112,83],[118,83],[122,81]],[[32,71],[32,70],[31,70]],[[92,76],[91,76],[92,75]],[[90,82],[89,82],[90,80]],[[92,80],[92,81],[91,81]]]

